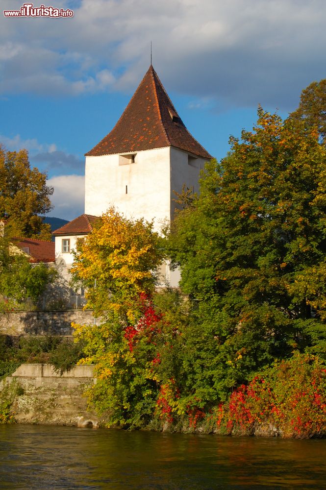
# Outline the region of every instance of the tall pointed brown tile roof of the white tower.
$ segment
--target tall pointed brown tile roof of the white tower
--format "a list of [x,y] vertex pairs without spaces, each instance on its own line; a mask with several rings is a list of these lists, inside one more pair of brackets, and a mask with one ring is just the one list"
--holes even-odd
[[189,133],[152,65],[112,131],[86,156],[176,147],[197,156],[211,155]]

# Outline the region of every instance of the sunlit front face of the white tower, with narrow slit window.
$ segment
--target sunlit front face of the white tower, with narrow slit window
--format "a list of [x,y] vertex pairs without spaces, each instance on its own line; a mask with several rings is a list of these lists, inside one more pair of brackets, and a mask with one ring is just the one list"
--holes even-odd
[[170,148],[134,154],[87,156],[85,214],[100,216],[110,206],[127,218],[170,218]]

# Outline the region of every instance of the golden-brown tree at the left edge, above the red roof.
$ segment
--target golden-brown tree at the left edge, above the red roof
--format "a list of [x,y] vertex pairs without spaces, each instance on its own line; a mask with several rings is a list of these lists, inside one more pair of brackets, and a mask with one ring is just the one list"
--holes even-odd
[[39,216],[52,208],[46,179],[46,173],[30,168],[25,149],[6,151],[0,145],[0,219],[16,236],[50,240],[50,225]]

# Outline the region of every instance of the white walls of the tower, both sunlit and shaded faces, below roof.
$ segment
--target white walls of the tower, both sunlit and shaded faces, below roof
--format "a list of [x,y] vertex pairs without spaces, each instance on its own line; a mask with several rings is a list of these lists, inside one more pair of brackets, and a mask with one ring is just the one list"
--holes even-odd
[[127,218],[154,220],[159,230],[173,218],[173,191],[181,192],[183,184],[198,190],[204,162],[174,147],[87,156],[85,214],[100,216],[115,206]]

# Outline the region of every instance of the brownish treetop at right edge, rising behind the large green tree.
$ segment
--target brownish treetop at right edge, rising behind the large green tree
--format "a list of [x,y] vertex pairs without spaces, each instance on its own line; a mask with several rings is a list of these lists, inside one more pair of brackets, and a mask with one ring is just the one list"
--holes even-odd
[[326,78],[302,90],[299,107],[290,117],[305,121],[310,128],[316,127],[322,141],[326,142]]

